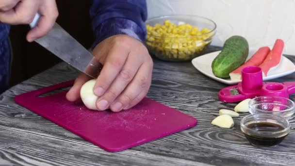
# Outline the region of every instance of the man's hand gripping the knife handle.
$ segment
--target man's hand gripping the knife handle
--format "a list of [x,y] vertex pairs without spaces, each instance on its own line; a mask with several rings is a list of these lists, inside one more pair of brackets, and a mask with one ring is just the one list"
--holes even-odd
[[0,22],[30,24],[36,13],[40,14],[39,24],[27,34],[29,42],[44,36],[52,28],[58,17],[55,0],[0,0]]

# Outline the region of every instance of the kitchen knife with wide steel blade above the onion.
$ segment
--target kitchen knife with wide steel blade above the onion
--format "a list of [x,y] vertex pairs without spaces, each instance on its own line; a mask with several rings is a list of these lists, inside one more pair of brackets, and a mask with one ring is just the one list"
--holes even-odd
[[[39,18],[40,15],[37,13],[30,24],[31,28],[38,24]],[[56,22],[47,35],[36,39],[35,42],[88,76],[98,77],[102,68],[101,63]]]

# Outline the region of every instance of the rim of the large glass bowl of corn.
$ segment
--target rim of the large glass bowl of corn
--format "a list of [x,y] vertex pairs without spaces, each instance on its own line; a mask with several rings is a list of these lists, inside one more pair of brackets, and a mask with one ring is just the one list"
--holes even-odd
[[[212,19],[209,19],[209,18],[206,18],[206,17],[202,17],[202,16],[197,16],[197,15],[164,15],[164,16],[158,16],[158,17],[151,17],[151,18],[149,18],[149,19],[147,19],[145,21],[145,24],[148,25],[147,24],[148,21],[157,20],[157,19],[165,18],[165,17],[167,17],[167,18],[168,17],[176,17],[176,16],[178,16],[178,17],[180,16],[180,17],[198,17],[198,18],[202,18],[202,19],[205,19],[205,20],[210,21],[211,23],[213,23],[214,28],[210,32],[208,32],[208,33],[203,33],[203,34],[199,34],[199,35],[188,36],[188,37],[164,37],[164,38],[177,38],[177,39],[179,39],[179,38],[192,38],[192,37],[203,36],[203,35],[206,35],[206,34],[209,34],[209,33],[213,33],[213,32],[216,31],[217,25],[216,25],[216,23]],[[211,37],[213,37],[213,35]],[[150,35],[150,36],[152,36],[152,37],[163,37],[163,36],[155,36],[155,35]]]

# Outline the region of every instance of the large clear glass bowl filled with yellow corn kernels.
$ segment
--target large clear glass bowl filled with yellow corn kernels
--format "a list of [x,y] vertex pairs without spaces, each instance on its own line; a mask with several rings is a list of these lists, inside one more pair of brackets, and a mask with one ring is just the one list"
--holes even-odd
[[166,61],[189,61],[210,46],[216,24],[200,16],[175,15],[146,21],[148,51]]

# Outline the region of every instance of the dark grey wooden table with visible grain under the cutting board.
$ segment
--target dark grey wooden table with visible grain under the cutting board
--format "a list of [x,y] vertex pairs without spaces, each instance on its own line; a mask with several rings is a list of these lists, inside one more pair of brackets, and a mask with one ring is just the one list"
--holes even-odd
[[[208,52],[215,50],[220,48],[211,47]],[[295,57],[287,57],[295,61]],[[251,146],[240,130],[240,120],[248,113],[234,118],[232,129],[211,124],[219,109],[233,109],[236,104],[219,101],[217,93],[227,85],[202,75],[190,62],[154,59],[148,97],[196,117],[198,125],[122,152],[106,152],[14,102],[18,94],[77,75],[76,70],[61,63],[0,95],[0,166],[295,165],[294,116],[291,132],[279,146]],[[274,81],[295,81],[295,73]]]

